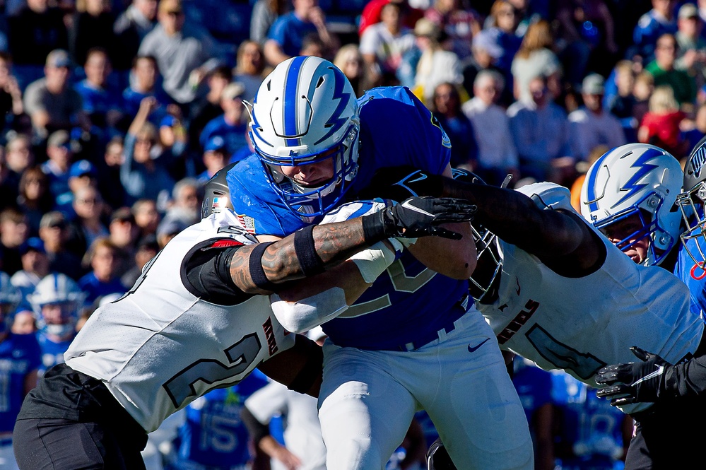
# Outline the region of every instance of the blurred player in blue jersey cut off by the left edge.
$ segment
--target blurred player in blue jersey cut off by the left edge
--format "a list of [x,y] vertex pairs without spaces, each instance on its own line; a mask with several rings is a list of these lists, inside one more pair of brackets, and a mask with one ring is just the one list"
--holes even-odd
[[0,468],[17,469],[12,447],[12,429],[25,395],[37,384],[41,365],[40,347],[33,334],[10,331],[20,290],[10,276],[0,271]]

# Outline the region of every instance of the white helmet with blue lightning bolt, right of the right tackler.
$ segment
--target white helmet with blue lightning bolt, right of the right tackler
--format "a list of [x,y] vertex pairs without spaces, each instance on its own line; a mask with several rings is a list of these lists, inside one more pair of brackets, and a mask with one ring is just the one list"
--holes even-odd
[[628,143],[613,148],[596,160],[586,174],[581,214],[601,231],[639,214],[642,228],[616,245],[626,251],[649,237],[649,250],[642,264],[660,264],[681,235],[676,198],[682,180],[678,160],[659,147]]

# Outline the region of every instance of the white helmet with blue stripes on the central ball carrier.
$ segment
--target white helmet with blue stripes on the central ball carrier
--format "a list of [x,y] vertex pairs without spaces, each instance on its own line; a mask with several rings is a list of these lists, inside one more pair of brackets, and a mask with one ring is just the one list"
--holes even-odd
[[[358,172],[355,99],[348,78],[320,57],[283,61],[257,90],[249,107],[250,139],[269,183],[298,216],[326,213]],[[328,158],[334,160],[334,177],[319,187],[302,187],[279,171]]]

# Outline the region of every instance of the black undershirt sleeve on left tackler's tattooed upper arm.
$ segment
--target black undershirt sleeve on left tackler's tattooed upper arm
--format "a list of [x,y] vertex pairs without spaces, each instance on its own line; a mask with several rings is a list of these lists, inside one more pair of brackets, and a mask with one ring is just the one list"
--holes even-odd
[[194,252],[186,262],[189,290],[206,302],[237,305],[252,297],[235,286],[230,259],[240,247],[207,248]]

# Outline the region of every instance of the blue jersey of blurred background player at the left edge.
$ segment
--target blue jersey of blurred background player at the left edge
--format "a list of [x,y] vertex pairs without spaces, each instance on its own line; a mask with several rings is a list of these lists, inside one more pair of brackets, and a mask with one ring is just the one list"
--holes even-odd
[[25,398],[25,377],[40,368],[33,334],[8,334],[0,343],[0,433],[11,433]]

